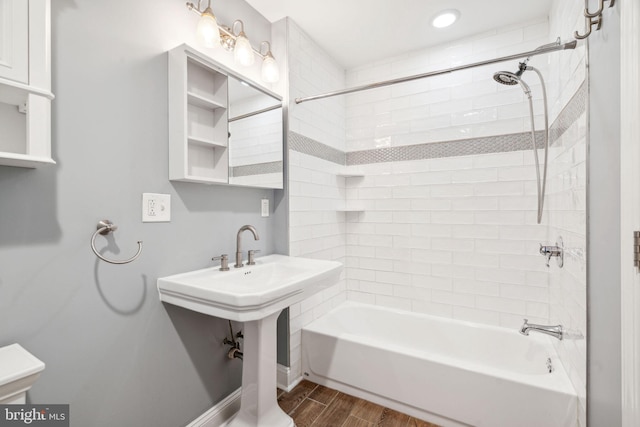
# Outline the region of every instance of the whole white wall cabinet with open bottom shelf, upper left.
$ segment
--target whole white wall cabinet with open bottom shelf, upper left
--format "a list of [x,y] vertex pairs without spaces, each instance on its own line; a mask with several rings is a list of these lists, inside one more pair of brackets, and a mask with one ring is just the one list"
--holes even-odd
[[0,165],[51,159],[51,0],[0,0]]

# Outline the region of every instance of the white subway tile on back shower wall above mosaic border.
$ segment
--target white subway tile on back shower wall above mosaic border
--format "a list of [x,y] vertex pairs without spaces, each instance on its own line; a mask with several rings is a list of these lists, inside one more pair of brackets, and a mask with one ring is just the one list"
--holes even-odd
[[[350,87],[443,70],[526,52],[550,41],[547,20],[533,20],[347,70],[346,83]],[[530,64],[547,69],[544,59],[533,58]],[[526,132],[527,99],[519,86],[493,80],[500,65],[347,95],[347,151]],[[517,61],[502,66],[515,69]],[[527,81],[540,107],[542,92],[535,75]]]

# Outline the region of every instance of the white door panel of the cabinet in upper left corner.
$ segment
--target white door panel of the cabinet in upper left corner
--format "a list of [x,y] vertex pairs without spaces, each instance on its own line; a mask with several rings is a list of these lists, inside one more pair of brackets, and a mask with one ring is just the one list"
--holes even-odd
[[0,0],[0,77],[29,82],[29,2]]

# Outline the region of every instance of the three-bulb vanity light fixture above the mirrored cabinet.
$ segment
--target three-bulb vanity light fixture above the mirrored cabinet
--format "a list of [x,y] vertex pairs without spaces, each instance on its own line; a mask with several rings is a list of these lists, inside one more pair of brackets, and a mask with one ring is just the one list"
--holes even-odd
[[[198,0],[197,6],[191,2],[187,2],[187,8],[200,16],[198,21],[197,34],[202,43],[209,48],[222,46],[226,50],[233,52],[236,63],[250,67],[255,63],[255,56],[262,58],[262,80],[267,83],[275,83],[280,79],[278,64],[271,53],[271,44],[263,41],[260,44],[260,50],[256,50],[251,46],[249,38],[244,32],[244,23],[236,20],[231,27],[221,25],[216,20],[216,16],[211,9],[211,0],[208,0],[207,7],[201,8],[203,0]],[[240,31],[235,32],[236,26],[240,26]],[[262,47],[266,44],[267,51],[262,53]]]

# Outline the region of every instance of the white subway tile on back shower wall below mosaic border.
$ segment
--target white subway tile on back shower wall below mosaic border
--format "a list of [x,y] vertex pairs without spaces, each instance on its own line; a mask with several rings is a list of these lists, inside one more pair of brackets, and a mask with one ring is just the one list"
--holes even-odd
[[[365,206],[347,219],[348,298],[513,328],[513,314],[548,322],[538,255],[547,229],[525,186],[535,183],[532,153],[406,163],[391,162],[392,174],[359,165],[365,176],[346,180]],[[518,203],[501,207],[511,197]]]

